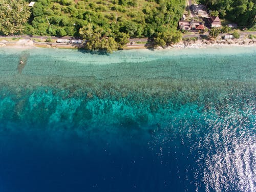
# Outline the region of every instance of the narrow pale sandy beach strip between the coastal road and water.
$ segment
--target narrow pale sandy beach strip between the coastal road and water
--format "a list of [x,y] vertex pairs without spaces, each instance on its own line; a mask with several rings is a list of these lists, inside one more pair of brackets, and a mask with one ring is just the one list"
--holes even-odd
[[[204,46],[218,46],[218,45],[232,45],[232,46],[255,46],[255,38],[239,38],[239,39],[183,39],[178,44],[169,46],[165,49],[172,48],[201,48]],[[35,42],[30,39],[19,39],[18,41],[0,41],[0,47],[5,46],[15,46],[17,48],[33,48],[33,47],[43,47],[43,48],[68,48],[68,49],[79,49],[83,48],[84,45],[74,45],[74,44],[63,44],[63,43],[54,43],[54,42]],[[127,44],[124,49],[148,49],[153,48],[149,44]],[[158,47],[157,49],[162,49]]]

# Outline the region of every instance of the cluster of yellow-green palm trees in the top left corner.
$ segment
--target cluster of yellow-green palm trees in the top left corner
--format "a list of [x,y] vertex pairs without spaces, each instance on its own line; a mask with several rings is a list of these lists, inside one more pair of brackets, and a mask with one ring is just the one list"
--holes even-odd
[[0,0],[0,32],[22,34],[30,16],[27,3],[24,0]]

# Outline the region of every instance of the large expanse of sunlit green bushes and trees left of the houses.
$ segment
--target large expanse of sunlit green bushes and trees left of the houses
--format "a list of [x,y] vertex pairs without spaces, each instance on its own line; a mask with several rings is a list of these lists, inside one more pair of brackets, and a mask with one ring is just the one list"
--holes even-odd
[[[14,31],[2,24],[0,33],[81,37],[88,40],[87,49],[107,51],[122,49],[129,37],[155,38],[156,45],[177,42],[185,9],[185,0],[35,0],[32,8],[30,0],[0,2],[1,18],[18,26]],[[20,23],[14,14],[6,16],[8,7],[18,6],[24,15]]]

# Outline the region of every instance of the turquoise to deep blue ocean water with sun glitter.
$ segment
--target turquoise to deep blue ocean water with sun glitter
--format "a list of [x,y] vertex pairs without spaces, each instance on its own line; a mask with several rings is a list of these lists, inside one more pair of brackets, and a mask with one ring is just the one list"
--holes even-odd
[[1,48],[0,191],[255,191],[255,58]]

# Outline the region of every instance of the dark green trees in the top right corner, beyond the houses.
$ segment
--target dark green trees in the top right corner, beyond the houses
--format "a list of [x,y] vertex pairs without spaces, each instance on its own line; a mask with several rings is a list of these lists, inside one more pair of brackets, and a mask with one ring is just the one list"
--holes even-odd
[[[199,0],[207,9],[218,11],[221,18],[226,18],[240,27],[255,27],[255,0]],[[217,13],[217,12],[216,12]]]

